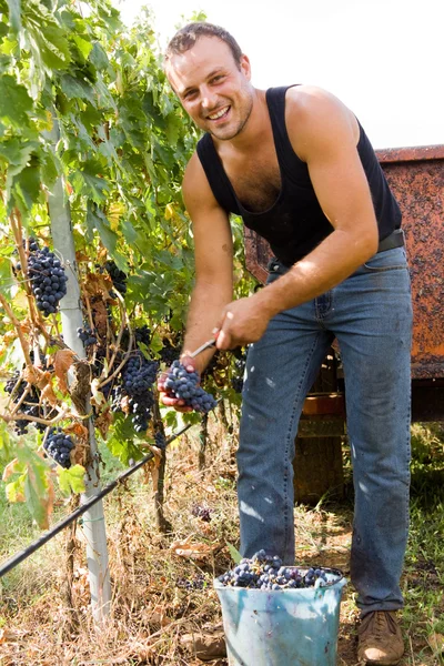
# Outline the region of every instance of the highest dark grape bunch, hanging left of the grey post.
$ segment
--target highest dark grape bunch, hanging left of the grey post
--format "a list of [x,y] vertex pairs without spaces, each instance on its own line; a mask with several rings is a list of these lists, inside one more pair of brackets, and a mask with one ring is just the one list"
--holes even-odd
[[44,316],[57,312],[60,300],[67,293],[68,278],[56,254],[47,246],[40,250],[36,239],[29,242],[28,278],[37,307]]

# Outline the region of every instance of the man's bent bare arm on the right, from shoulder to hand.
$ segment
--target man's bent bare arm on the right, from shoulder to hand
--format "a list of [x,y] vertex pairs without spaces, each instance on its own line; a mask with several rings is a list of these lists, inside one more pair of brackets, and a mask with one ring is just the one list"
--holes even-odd
[[[230,303],[221,320],[220,349],[259,340],[272,316],[304,303],[349,278],[377,249],[377,223],[356,150],[359,125],[336,98],[312,88],[290,89],[286,125],[306,162],[333,232],[303,260],[254,296]],[[260,321],[254,314],[260,314]]]

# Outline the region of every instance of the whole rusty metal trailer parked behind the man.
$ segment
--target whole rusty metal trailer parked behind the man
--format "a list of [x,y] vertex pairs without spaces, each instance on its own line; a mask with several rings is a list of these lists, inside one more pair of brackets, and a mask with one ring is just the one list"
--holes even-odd
[[[412,279],[412,420],[444,421],[444,145],[376,151],[403,213]],[[271,251],[245,228],[248,270],[262,283]],[[295,498],[343,490],[344,385],[334,349],[310,392],[296,437]]]

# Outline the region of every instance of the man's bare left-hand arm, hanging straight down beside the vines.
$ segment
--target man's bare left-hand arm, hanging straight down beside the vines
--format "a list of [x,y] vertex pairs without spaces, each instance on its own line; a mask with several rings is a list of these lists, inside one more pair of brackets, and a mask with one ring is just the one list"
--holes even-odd
[[[192,352],[212,337],[221,312],[233,297],[233,245],[229,216],[214,199],[196,154],[186,168],[183,199],[194,235],[195,286],[184,341],[184,351]],[[195,359],[200,372],[213,353]]]

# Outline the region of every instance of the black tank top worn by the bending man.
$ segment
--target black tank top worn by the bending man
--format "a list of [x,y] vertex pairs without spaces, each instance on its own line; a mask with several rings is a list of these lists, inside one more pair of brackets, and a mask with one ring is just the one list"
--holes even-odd
[[[241,215],[245,226],[269,241],[273,254],[290,266],[311,252],[333,228],[322,212],[305,162],[294,152],[285,127],[285,92],[270,88],[266,103],[281,171],[281,192],[266,211],[248,211],[216,153],[211,134],[198,143],[198,155],[218,203],[228,213]],[[389,188],[374,150],[360,124],[357,152],[364,168],[380,230],[380,241],[401,226],[401,211]]]

